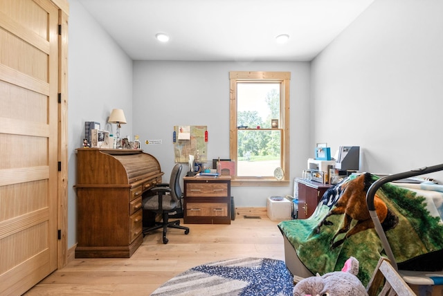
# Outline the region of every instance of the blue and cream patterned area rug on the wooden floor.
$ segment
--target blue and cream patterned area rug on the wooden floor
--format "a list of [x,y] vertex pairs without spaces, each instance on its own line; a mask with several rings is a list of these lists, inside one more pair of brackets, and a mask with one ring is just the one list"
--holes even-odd
[[160,286],[160,295],[291,296],[293,277],[283,261],[242,258],[207,263],[177,275]]

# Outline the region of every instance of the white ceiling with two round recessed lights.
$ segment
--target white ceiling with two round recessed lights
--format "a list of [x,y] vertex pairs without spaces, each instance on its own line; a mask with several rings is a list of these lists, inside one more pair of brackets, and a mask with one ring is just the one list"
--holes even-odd
[[252,62],[310,61],[374,0],[78,1],[134,60]]

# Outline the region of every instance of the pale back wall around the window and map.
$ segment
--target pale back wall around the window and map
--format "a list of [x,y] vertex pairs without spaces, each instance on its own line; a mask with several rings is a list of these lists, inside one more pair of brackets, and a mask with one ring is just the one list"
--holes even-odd
[[[291,178],[301,176],[311,155],[307,147],[309,63],[307,62],[134,62],[134,133],[154,155],[168,180],[174,165],[175,125],[208,126],[208,159],[229,158],[229,71],[291,72]],[[162,145],[145,145],[162,140]],[[184,165],[183,171],[188,171]],[[264,207],[272,195],[292,194],[287,187],[231,187],[235,206]]]

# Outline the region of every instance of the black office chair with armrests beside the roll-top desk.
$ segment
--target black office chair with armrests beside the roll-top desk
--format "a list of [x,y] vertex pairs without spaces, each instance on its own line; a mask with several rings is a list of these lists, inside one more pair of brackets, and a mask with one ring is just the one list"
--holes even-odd
[[[181,165],[174,165],[171,172],[169,184],[158,184],[156,187],[143,194],[143,210],[149,210],[163,215],[163,221],[156,222],[155,226],[143,229],[143,237],[147,232],[163,228],[163,243],[168,243],[166,232],[168,228],[177,228],[189,233],[189,228],[180,225],[180,221],[169,221],[172,212],[181,210],[181,188],[180,188]],[[168,187],[169,186],[169,187]]]

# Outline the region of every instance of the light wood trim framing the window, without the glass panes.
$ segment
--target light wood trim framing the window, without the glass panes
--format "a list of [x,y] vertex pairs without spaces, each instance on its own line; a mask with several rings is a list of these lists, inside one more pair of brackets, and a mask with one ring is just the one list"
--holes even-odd
[[289,185],[289,84],[290,72],[269,71],[232,71],[229,73],[230,80],[230,159],[235,160],[237,172],[237,82],[273,81],[282,84],[280,104],[280,120],[282,123],[282,169],[284,178],[277,181],[273,177],[237,177],[231,180],[231,186],[287,186]]

